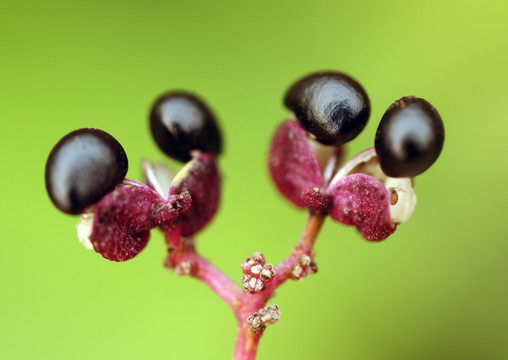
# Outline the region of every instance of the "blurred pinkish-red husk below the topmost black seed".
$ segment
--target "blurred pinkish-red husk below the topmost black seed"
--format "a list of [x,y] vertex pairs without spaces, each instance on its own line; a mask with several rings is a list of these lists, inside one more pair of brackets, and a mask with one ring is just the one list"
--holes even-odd
[[270,148],[268,167],[279,191],[293,204],[305,207],[303,192],[321,188],[319,164],[305,131],[297,121],[282,123]]

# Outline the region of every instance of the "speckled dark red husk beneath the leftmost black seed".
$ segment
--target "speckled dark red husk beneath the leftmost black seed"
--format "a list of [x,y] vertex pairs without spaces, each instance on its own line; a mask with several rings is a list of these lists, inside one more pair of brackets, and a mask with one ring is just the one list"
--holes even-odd
[[126,179],[95,206],[94,250],[112,261],[133,258],[148,242],[150,229],[177,220],[177,199],[166,201],[148,186]]

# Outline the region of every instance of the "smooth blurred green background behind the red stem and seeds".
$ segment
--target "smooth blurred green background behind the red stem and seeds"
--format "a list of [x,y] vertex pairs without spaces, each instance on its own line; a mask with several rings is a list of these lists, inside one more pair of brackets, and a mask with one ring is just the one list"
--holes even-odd
[[372,103],[348,148],[372,146],[396,98],[425,97],[446,128],[416,180],[412,219],[380,244],[327,221],[320,272],[280,288],[259,359],[508,358],[506,1],[19,1],[0,3],[0,358],[228,359],[229,308],[163,268],[161,234],[112,263],[77,241],[44,188],[69,131],[113,134],[141,179],[163,160],[149,104],[191,89],[220,117],[222,207],[197,238],[229,276],[277,263],[306,215],[276,193],[266,156],[286,88],[320,69],[352,74]]

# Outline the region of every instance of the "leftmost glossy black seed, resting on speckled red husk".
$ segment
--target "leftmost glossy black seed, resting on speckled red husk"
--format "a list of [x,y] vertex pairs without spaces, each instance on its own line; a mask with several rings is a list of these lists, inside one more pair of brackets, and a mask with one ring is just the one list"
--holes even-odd
[[46,190],[67,214],[80,214],[123,181],[128,161],[115,138],[98,129],[65,135],[46,162]]

